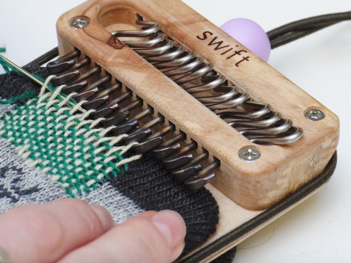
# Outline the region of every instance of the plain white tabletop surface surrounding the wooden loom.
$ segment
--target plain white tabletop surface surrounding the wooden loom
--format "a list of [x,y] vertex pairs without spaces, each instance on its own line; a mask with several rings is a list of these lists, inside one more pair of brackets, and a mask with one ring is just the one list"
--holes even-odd
[[[309,16],[351,10],[350,0],[184,1],[218,26],[243,17],[265,31]],[[2,0],[0,46],[5,44],[5,55],[24,65],[57,46],[55,21],[81,2]],[[338,165],[324,189],[241,243],[234,262],[351,262],[350,60],[351,21],[272,50],[269,63],[274,68],[339,116]]]

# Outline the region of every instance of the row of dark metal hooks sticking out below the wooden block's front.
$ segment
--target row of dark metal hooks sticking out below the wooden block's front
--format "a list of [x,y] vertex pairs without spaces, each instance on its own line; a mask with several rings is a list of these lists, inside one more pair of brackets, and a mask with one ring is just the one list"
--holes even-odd
[[65,85],[65,94],[77,93],[75,101],[85,100],[82,108],[94,109],[93,119],[104,118],[100,124],[114,128],[111,135],[127,134],[125,143],[138,142],[133,146],[137,153],[152,150],[173,178],[183,182],[189,190],[195,190],[213,180],[220,162],[209,162],[209,153],[198,149],[197,142],[189,140],[183,131],[176,132],[173,123],[167,122],[154,109],[145,105],[138,96],[124,88],[118,80],[112,81],[110,74],[102,74],[101,67],[90,58],[81,56],[79,50],[49,62],[47,68],[56,76],[54,86]]

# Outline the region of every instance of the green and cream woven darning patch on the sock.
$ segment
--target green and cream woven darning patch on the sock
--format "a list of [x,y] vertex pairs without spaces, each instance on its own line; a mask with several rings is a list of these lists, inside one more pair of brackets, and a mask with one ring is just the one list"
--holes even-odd
[[[82,102],[69,106],[71,97],[44,86],[39,96],[2,117],[0,135],[7,139],[26,160],[58,181],[70,196],[97,189],[102,178],[117,177],[119,167],[140,155],[124,159],[134,143],[120,145],[127,135],[108,137],[112,127],[97,128],[101,119],[90,120],[78,111]],[[127,167],[126,167],[127,168]]]

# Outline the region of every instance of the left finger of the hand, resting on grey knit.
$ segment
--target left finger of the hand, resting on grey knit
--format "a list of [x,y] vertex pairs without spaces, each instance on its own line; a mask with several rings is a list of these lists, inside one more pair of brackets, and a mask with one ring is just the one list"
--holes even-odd
[[111,227],[108,211],[85,201],[25,205],[0,215],[0,247],[11,262],[52,263]]

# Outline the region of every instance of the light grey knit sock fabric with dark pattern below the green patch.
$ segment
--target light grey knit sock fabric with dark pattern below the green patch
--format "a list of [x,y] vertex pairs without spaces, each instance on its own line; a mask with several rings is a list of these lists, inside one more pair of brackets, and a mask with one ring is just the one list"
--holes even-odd
[[[13,146],[0,137],[0,214],[19,205],[42,204],[68,197],[59,182],[51,181],[37,167],[29,168]],[[83,193],[79,198],[104,206],[115,224],[144,211],[110,182],[90,193]]]

